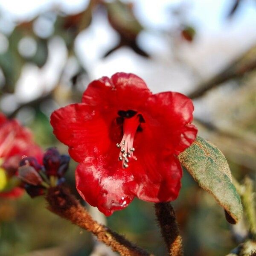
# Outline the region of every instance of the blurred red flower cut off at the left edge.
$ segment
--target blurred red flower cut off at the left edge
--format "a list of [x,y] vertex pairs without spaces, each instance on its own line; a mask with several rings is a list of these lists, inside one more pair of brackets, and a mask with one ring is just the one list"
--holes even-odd
[[42,161],[43,153],[28,128],[0,113],[0,197],[16,198],[23,194],[22,188],[9,187],[12,177],[17,175],[20,160],[26,156]]

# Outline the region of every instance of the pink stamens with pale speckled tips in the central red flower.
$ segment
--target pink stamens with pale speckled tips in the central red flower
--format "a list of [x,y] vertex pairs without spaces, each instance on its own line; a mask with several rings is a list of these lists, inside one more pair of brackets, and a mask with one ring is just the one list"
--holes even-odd
[[[121,112],[121,111],[119,111]],[[126,113],[123,117],[123,137],[120,143],[116,144],[117,148],[120,148],[119,161],[122,161],[122,167],[129,167],[129,161],[137,160],[134,155],[135,148],[133,147],[134,136],[137,129],[140,127],[141,119],[143,119],[141,114],[137,114],[134,111],[132,115],[128,114],[128,111],[122,111]],[[119,113],[120,115],[120,113]],[[120,115],[121,116],[121,115]]]

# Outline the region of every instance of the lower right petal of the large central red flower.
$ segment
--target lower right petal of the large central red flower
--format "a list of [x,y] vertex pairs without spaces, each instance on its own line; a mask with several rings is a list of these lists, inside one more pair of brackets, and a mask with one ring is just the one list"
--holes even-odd
[[[138,198],[150,202],[173,201],[180,191],[182,169],[173,155],[137,151],[138,160],[130,164],[134,182],[129,188]],[[128,168],[130,168],[128,167]],[[137,186],[134,186],[137,183]]]

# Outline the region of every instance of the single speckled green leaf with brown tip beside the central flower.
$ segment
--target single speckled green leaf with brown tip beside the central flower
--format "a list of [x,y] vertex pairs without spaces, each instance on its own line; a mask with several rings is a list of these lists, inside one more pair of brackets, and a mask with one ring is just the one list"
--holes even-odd
[[242,205],[226,158],[215,146],[197,137],[195,142],[179,154],[180,163],[201,188],[209,192],[226,213],[227,221],[236,224],[242,216]]

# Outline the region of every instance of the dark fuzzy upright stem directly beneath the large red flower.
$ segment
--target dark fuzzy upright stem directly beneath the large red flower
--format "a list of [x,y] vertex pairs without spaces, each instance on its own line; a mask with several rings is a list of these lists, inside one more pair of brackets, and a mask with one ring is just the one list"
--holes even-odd
[[169,255],[183,256],[182,238],[172,205],[170,203],[157,203],[154,207]]

